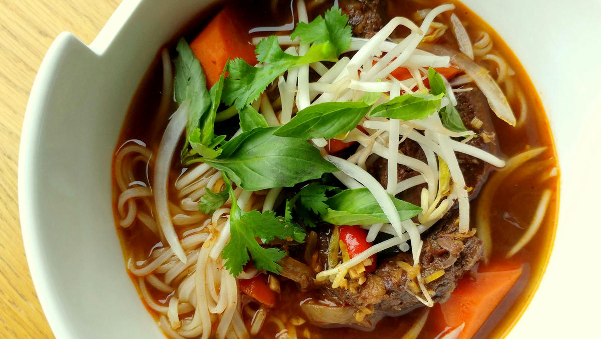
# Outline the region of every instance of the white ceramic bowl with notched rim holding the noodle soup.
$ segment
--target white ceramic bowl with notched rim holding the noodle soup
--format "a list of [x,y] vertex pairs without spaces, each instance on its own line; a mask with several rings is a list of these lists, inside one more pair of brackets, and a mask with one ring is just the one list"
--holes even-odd
[[[90,46],[63,33],[41,64],[23,123],[19,207],[31,276],[59,339],[164,338],[124,267],[111,208],[111,157],[159,46],[209,2],[124,0]],[[585,265],[601,238],[594,208],[601,187],[593,176],[601,168],[600,2],[465,2],[534,81],[562,170],[548,272],[509,337],[592,334],[600,300],[588,295],[597,287],[587,284],[598,284],[599,269]]]

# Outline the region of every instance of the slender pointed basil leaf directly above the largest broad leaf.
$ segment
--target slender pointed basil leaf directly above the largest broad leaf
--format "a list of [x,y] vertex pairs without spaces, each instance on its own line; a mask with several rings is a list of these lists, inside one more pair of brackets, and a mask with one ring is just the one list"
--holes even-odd
[[330,139],[355,128],[371,106],[361,101],[323,102],[301,110],[274,135]]

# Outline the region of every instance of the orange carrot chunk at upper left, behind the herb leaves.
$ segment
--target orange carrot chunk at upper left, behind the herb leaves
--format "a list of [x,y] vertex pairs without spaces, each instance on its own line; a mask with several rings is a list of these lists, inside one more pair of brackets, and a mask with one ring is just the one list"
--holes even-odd
[[242,58],[252,66],[257,63],[251,36],[240,22],[236,10],[225,7],[190,44],[203,66],[208,87],[219,81],[228,59]]

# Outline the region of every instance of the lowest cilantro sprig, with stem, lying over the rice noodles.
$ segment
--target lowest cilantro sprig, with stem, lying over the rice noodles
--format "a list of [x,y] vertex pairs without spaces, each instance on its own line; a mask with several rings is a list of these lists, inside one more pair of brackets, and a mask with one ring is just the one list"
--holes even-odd
[[222,176],[224,178],[225,189],[232,201],[230,211],[230,240],[225,244],[221,252],[221,256],[226,260],[224,264],[225,268],[233,276],[237,276],[242,272],[243,266],[249,260],[252,260],[252,264],[258,270],[279,273],[282,267],[279,266],[278,261],[282,260],[286,253],[280,249],[263,247],[257,242],[256,238],[271,241],[274,238],[284,240],[286,237],[291,237],[296,240],[300,238],[299,230],[288,226],[284,222],[285,218],[276,216],[273,211],[265,211],[263,213],[257,210],[250,212],[242,211],[236,201],[230,179],[225,173],[222,173]]

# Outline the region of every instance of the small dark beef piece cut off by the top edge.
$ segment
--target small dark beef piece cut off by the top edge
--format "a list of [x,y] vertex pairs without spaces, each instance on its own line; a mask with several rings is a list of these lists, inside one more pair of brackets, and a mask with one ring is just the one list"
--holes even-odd
[[353,35],[369,39],[382,29],[382,17],[378,13],[380,0],[340,0],[342,13],[349,17]]

